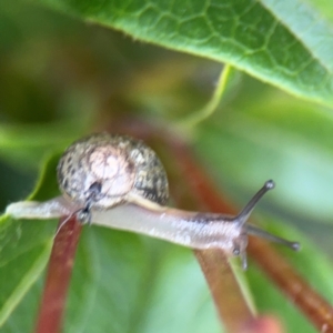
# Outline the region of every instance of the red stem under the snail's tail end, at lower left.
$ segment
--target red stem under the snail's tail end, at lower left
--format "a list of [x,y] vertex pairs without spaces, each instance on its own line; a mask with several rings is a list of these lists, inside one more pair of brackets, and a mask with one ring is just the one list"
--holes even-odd
[[[60,219],[59,225],[61,225],[64,219]],[[46,285],[37,317],[36,333],[61,332],[68,287],[81,228],[81,224],[73,216],[62,225],[54,238]]]

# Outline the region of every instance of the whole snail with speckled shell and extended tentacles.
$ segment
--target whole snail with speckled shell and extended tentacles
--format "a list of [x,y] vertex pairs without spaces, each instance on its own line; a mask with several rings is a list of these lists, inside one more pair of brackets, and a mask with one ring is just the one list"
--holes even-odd
[[109,133],[74,142],[61,157],[57,172],[61,196],[12,203],[6,213],[16,219],[77,214],[83,224],[133,231],[192,249],[219,248],[226,254],[240,255],[244,269],[249,234],[293,250],[300,248],[297,242],[246,224],[259,200],[274,188],[272,180],[236,216],[169,208],[167,173],[154,151],[140,140]]

